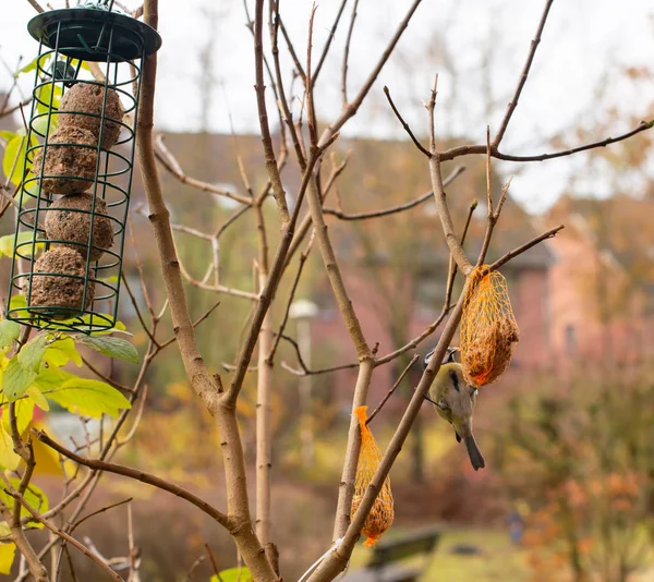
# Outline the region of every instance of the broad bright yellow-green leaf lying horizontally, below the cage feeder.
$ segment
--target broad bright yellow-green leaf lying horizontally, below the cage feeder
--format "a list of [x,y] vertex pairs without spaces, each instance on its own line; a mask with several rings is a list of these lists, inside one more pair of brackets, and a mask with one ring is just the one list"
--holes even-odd
[[118,416],[120,409],[132,404],[116,388],[100,380],[73,377],[47,397],[70,412],[99,419],[102,414]]

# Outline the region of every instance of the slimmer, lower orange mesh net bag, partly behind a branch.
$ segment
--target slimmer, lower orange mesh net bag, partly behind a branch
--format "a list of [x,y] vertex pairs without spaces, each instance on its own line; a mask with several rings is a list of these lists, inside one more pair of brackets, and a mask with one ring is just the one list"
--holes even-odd
[[[359,449],[359,464],[356,465],[356,480],[354,482],[354,497],[352,497],[352,509],[351,516],[354,516],[356,509],[361,505],[363,495],[365,494],[373,475],[379,466],[382,460],[382,453],[379,447],[375,441],[373,433],[365,424],[367,419],[367,407],[359,407],[354,414],[359,419],[359,426],[361,428],[361,448]],[[363,544],[366,547],[373,547],[382,534],[390,528],[392,519],[395,517],[395,510],[392,506],[392,495],[390,493],[390,478],[386,477],[382,490],[375,499],[373,509],[368,513],[368,517],[363,524],[361,533],[367,537]]]

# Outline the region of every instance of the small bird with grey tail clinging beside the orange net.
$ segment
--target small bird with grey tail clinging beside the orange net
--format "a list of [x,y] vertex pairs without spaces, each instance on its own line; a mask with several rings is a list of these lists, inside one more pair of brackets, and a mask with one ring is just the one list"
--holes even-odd
[[[457,442],[465,442],[470,462],[475,471],[486,466],[482,451],[472,435],[472,412],[477,397],[477,389],[465,384],[461,364],[455,361],[457,348],[448,348],[444,362],[436,374],[434,384],[429,388],[428,400],[434,404],[436,412],[455,428]],[[425,367],[434,351],[425,356]]]

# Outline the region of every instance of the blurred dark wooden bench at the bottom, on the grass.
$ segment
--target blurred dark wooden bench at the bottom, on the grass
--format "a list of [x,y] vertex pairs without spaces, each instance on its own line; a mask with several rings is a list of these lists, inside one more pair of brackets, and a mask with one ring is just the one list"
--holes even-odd
[[[439,528],[427,528],[401,537],[377,542],[364,569],[348,572],[343,582],[415,582],[427,569],[440,539]],[[422,556],[419,563],[410,558]]]

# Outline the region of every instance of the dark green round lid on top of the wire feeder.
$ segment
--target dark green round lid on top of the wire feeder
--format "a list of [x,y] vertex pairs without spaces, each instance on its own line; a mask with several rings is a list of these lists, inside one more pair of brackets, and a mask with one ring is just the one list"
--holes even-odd
[[43,12],[29,21],[27,31],[47,47],[84,61],[131,61],[161,47],[161,37],[152,26],[109,10],[102,1]]

